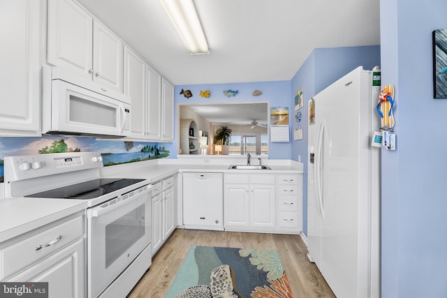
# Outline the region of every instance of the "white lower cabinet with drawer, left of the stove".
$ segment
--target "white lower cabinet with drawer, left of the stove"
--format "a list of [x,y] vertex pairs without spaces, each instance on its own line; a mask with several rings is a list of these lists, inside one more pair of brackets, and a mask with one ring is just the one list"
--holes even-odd
[[86,295],[83,211],[3,242],[0,255],[0,281],[47,282],[50,298]]

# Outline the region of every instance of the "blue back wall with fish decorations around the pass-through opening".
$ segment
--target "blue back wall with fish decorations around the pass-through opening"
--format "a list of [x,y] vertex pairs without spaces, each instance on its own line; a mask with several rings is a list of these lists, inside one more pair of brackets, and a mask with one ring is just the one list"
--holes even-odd
[[[193,94],[190,98],[185,98],[180,91],[190,90]],[[210,98],[200,97],[200,91],[210,90]],[[237,90],[236,96],[228,98],[223,94],[224,90]],[[262,91],[260,96],[253,96],[254,90]],[[291,102],[291,81],[276,81],[276,82],[247,82],[247,83],[232,83],[232,84],[196,84],[175,86],[175,128],[177,128],[177,105],[184,103],[250,103],[250,102],[268,102],[270,107],[288,107],[289,111],[289,125],[291,124],[291,116],[293,115],[293,103]],[[291,128],[289,128],[289,133]],[[292,135],[291,135],[292,137]],[[175,129],[173,144],[166,144],[166,147],[171,152],[170,157],[175,158],[177,155],[177,140],[178,131]],[[290,159],[291,143],[270,143],[269,141],[269,158],[273,159]]]

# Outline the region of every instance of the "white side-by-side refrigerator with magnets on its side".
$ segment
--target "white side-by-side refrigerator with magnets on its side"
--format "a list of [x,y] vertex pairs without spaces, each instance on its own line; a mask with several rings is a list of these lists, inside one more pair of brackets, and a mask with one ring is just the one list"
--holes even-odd
[[379,91],[360,66],[309,100],[308,256],[339,298],[380,297]]

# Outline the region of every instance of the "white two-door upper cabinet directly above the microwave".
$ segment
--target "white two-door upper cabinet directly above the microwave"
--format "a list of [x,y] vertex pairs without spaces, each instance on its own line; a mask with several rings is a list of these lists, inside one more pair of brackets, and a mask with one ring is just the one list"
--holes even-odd
[[47,62],[123,91],[122,41],[71,0],[48,0]]

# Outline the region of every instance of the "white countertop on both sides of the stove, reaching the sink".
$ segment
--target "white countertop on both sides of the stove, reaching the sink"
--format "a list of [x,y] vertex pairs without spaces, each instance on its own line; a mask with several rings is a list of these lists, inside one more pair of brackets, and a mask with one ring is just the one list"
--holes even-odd
[[[252,165],[258,162],[257,158],[252,161]],[[101,176],[147,179],[154,183],[177,172],[302,173],[302,163],[264,159],[263,164],[272,170],[228,170],[230,165],[243,165],[245,162],[245,158],[212,158],[212,156],[166,158],[103,167]],[[1,184],[0,191],[3,191]],[[85,208],[87,202],[82,200],[0,198],[0,243]]]

